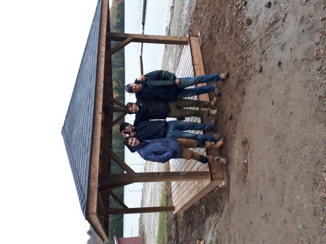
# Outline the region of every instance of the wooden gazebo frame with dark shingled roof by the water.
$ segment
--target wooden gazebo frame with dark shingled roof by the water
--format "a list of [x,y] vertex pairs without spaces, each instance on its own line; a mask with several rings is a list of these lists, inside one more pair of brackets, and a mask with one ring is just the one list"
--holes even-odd
[[[195,185],[196,196],[188,196],[185,204],[179,203],[181,205],[176,212],[180,212],[223,182],[225,175],[218,164],[209,165],[202,171],[137,173],[111,150],[112,126],[126,115],[125,105],[113,98],[111,55],[130,42],[190,45],[195,75],[204,74],[204,68],[198,36],[186,38],[111,33],[109,26],[109,0],[99,0],[62,128],[83,214],[103,241],[108,240],[111,214],[176,210],[174,205],[128,208],[113,194],[112,189],[136,182],[205,181],[200,186],[201,190]],[[121,42],[111,48],[111,41]],[[200,99],[209,100],[207,94]],[[120,113],[115,120],[114,113]],[[111,174],[111,159],[127,173]],[[121,208],[111,208],[110,197],[120,203]]]

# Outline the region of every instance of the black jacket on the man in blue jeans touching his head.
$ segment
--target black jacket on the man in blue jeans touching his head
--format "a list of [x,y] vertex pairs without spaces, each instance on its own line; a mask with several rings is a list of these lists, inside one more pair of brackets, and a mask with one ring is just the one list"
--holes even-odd
[[135,127],[135,138],[137,138],[139,142],[141,142],[143,139],[151,140],[165,138],[165,128],[167,127],[166,124],[166,121],[141,121],[138,123],[137,127]]

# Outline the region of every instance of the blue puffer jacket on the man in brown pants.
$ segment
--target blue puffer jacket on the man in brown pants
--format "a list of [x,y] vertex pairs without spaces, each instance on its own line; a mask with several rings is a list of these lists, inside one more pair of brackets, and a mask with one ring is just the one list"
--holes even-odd
[[137,151],[143,159],[158,163],[165,163],[181,156],[180,143],[173,138],[143,140],[137,146],[129,148],[130,151]]

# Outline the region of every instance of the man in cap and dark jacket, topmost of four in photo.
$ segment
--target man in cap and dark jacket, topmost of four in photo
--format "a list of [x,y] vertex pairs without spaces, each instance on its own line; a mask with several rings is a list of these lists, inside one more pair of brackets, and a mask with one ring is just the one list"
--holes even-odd
[[175,101],[212,91],[215,91],[218,96],[217,85],[185,88],[196,84],[225,80],[228,77],[229,73],[224,73],[178,79],[169,71],[156,70],[139,76],[134,83],[126,85],[125,89],[129,93],[135,93],[137,100]]

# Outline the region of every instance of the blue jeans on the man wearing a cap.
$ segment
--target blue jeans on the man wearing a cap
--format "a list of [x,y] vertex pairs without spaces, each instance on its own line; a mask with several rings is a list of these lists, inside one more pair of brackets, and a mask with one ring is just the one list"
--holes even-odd
[[180,80],[180,84],[178,85],[176,100],[179,100],[181,98],[193,97],[196,95],[201,95],[201,94],[214,91],[215,85],[204,85],[204,86],[200,86],[196,88],[188,88],[188,89],[185,88],[196,84],[219,81],[221,80],[221,76],[219,74],[203,75],[203,76],[179,78],[179,80]]

